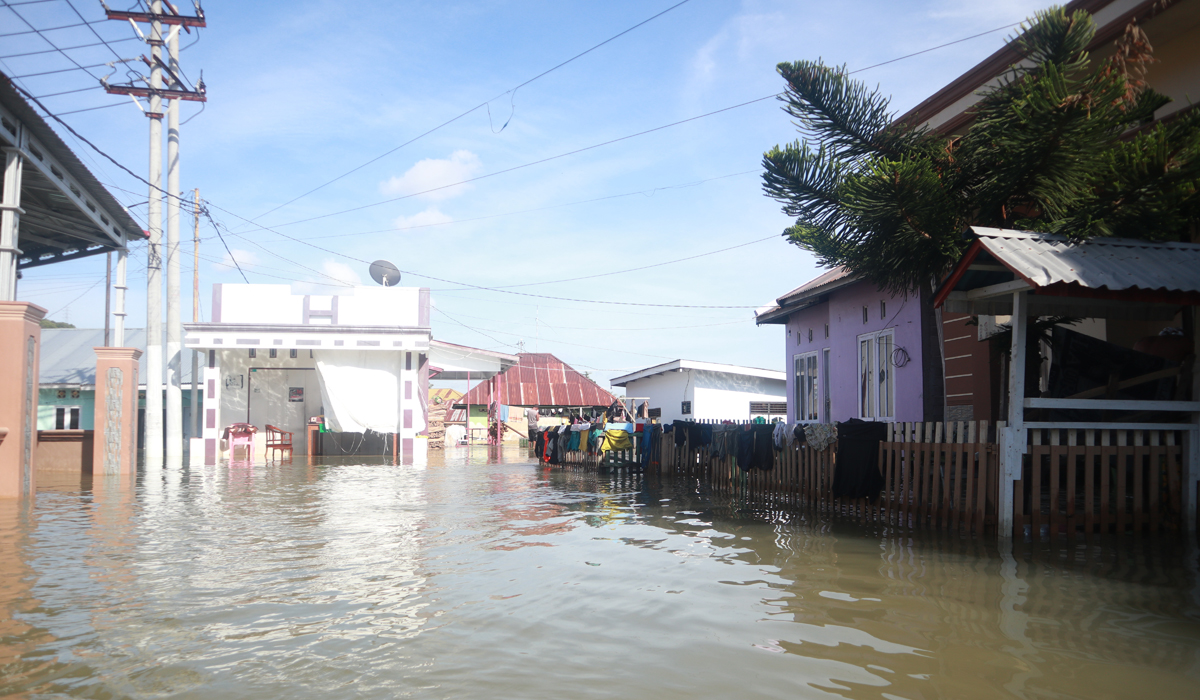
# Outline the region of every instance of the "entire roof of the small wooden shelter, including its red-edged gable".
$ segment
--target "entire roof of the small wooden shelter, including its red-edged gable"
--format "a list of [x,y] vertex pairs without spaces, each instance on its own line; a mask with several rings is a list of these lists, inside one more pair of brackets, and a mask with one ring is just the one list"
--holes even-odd
[[[1043,315],[1145,317],[1145,305],[1200,305],[1200,244],[1063,235],[973,227],[976,240],[934,294],[964,313],[1007,313],[1013,292],[1028,289]],[[1032,298],[1031,298],[1032,299]],[[1141,305],[1141,311],[1122,309]],[[1075,307],[1048,312],[1046,305]],[[961,311],[970,307],[973,311]],[[986,309],[986,310],[985,310]]]

